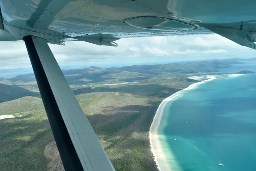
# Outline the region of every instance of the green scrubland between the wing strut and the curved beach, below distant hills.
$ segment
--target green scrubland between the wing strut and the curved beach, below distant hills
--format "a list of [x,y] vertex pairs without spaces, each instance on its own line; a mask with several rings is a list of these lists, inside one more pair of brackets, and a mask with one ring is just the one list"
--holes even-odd
[[155,97],[154,104],[148,95],[120,92],[86,93],[77,99],[98,137],[110,143],[105,150],[115,169],[156,170],[148,130],[161,99]]

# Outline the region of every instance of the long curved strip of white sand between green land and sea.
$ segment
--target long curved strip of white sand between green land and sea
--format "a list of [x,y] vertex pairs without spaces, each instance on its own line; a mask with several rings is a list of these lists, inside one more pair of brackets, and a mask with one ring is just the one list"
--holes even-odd
[[[227,74],[229,75],[229,74]],[[231,75],[231,74],[230,74]],[[172,95],[170,95],[169,97],[165,98],[161,104],[158,106],[157,110],[156,110],[156,114],[154,116],[154,119],[152,121],[152,124],[150,126],[150,131],[149,131],[149,139],[150,139],[150,150],[153,154],[153,158],[154,161],[156,163],[156,167],[159,171],[163,170],[174,170],[169,163],[167,162],[167,158],[165,156],[163,147],[161,145],[161,141],[160,141],[160,137],[158,135],[158,129],[160,127],[161,124],[161,119],[163,116],[163,110],[165,108],[165,106],[167,105],[167,103],[171,100],[174,100],[176,97],[180,96],[181,94],[194,89],[197,85],[202,84],[204,82],[208,82],[211,80],[214,80],[215,78],[217,78],[218,75],[209,75],[209,76],[203,76],[204,78],[208,78],[207,80],[202,80],[200,82],[196,82],[194,84],[189,85],[189,87],[182,89]],[[171,160],[174,160],[174,158],[171,158]]]

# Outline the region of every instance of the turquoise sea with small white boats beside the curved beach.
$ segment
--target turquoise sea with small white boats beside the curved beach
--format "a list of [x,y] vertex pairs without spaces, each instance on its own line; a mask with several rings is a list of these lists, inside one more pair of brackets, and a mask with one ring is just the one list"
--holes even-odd
[[182,170],[256,171],[256,74],[187,91],[167,104],[158,132]]

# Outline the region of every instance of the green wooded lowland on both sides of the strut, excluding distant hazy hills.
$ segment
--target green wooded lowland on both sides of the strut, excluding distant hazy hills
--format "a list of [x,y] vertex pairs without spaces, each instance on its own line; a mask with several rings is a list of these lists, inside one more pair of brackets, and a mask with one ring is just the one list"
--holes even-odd
[[[174,81],[170,79],[169,83]],[[193,82],[180,79],[176,83],[182,89]],[[95,89],[78,89],[75,93],[115,169],[156,170],[148,131],[163,98],[179,89],[167,84],[98,84]],[[0,108],[0,115],[16,116],[0,120],[2,170],[49,169],[51,159],[44,156],[44,150],[46,145],[50,151],[56,146],[41,100],[22,97],[0,103]],[[60,164],[59,158],[52,165]]]

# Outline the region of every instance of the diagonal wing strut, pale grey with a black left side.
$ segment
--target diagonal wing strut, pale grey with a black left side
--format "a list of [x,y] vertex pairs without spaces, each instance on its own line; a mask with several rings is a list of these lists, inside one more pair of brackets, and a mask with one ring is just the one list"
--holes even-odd
[[23,39],[65,170],[115,170],[46,40]]

